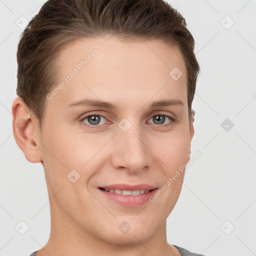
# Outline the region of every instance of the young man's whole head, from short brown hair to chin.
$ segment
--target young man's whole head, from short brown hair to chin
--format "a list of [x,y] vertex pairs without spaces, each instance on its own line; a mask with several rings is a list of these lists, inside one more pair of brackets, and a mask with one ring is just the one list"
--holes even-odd
[[[184,18],[162,0],[43,4],[18,44],[12,112],[17,144],[43,165],[52,219],[113,244],[164,226],[184,171],[168,180],[194,134],[193,49]],[[121,204],[102,190],[113,184],[150,185],[154,200]]]

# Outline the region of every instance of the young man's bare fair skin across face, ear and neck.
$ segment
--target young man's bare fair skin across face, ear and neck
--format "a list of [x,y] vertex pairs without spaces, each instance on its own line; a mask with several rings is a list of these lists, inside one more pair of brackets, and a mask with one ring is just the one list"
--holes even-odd
[[[37,256],[181,255],[167,243],[166,218],[184,174],[154,202],[136,207],[109,200],[98,187],[145,183],[160,188],[189,160],[194,128],[193,123],[189,127],[184,59],[178,47],[161,40],[108,37],[76,39],[58,52],[60,83],[86,54],[99,50],[52,99],[45,99],[42,130],[22,99],[13,101],[15,140],[28,161],[42,163],[51,198],[50,237]],[[175,66],[183,72],[178,80],[169,75]],[[82,99],[108,101],[116,109],[68,107]],[[162,99],[179,99],[183,106],[149,108]],[[89,118],[80,120],[89,114],[100,115],[97,127]],[[165,116],[157,122],[152,118],[157,114],[176,121]],[[131,123],[125,132],[118,126],[123,118]],[[22,128],[16,125],[20,120]],[[67,178],[72,169],[80,174],[74,183]],[[125,234],[118,228],[123,221],[131,226]]]

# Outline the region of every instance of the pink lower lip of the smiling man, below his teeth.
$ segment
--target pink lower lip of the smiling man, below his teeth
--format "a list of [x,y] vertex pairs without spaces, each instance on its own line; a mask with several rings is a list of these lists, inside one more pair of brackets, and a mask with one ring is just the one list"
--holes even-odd
[[99,189],[99,190],[105,196],[107,196],[107,198],[109,198],[110,200],[116,203],[119,203],[121,205],[128,206],[128,207],[135,207],[149,201],[149,197],[155,193],[156,189],[157,188],[154,188],[153,190],[148,191],[147,193],[143,193],[139,195],[123,195],[123,194],[107,192],[102,189]]

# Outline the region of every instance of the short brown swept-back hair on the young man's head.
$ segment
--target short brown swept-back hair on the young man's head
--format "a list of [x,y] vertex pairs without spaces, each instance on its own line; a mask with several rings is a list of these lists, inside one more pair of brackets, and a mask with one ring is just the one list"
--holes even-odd
[[176,9],[163,0],[48,0],[22,32],[17,49],[16,92],[40,127],[46,95],[58,79],[54,61],[60,46],[79,37],[106,34],[178,45],[186,64],[190,124],[200,67],[193,52],[193,36]]

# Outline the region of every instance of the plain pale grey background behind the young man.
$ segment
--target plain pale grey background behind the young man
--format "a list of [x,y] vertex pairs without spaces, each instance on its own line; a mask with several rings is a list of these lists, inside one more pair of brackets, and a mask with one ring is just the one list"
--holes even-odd
[[[0,256],[30,255],[50,231],[42,165],[25,159],[11,127],[19,35],[43,2],[0,0]],[[191,147],[201,156],[167,219],[168,242],[210,256],[255,255],[256,0],[168,2],[185,17],[201,67]],[[20,225],[29,226],[24,234]]]

